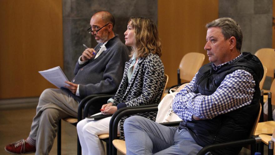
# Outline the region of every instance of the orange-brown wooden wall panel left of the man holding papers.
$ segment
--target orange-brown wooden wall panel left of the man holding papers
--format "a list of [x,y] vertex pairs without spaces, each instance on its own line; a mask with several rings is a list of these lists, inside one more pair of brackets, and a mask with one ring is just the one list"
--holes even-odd
[[39,96],[63,66],[62,0],[0,1],[0,99]]

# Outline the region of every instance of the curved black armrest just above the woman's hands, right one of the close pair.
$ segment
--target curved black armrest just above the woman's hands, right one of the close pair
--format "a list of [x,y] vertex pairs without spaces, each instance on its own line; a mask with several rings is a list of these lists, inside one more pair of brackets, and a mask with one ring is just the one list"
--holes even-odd
[[88,110],[90,108],[90,106],[92,106],[93,104],[98,104],[98,103],[102,103],[104,102],[104,104],[107,104],[108,99],[110,99],[111,97],[113,97],[115,94],[105,94],[105,95],[101,95],[101,96],[96,96],[93,97],[92,99],[90,99],[89,101],[86,102],[86,105],[84,106],[84,117],[88,116]]

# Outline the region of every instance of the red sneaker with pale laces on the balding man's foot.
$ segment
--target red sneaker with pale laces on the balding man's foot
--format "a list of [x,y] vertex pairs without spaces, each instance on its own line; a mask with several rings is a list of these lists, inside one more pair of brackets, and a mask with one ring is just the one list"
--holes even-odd
[[11,154],[29,154],[36,151],[36,147],[30,145],[25,139],[9,144],[5,147],[5,150]]

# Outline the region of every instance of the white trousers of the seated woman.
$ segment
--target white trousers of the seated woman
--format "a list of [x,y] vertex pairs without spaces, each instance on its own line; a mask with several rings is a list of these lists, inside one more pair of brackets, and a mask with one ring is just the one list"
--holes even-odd
[[[94,115],[99,114],[101,113]],[[82,155],[105,155],[103,142],[98,138],[98,135],[109,134],[110,120],[111,116],[96,121],[83,119],[78,122],[77,132],[82,148]]]

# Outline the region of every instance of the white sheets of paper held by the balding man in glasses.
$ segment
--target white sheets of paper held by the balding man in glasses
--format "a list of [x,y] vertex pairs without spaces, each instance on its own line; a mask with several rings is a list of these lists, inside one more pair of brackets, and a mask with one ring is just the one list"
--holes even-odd
[[39,71],[39,73],[49,82],[51,82],[53,85],[57,86],[58,88],[64,87],[67,85],[65,81],[68,81],[68,78],[60,68],[60,66]]

